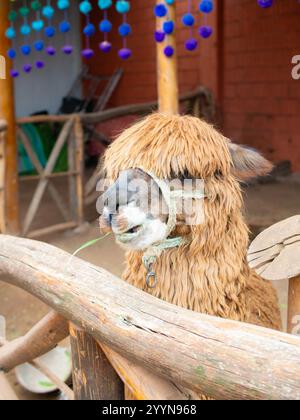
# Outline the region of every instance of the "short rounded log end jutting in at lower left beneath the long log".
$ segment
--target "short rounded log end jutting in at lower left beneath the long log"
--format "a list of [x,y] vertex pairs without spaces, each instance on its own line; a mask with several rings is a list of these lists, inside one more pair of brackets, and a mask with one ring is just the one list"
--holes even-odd
[[0,348],[0,370],[9,372],[18,365],[36,359],[52,350],[68,335],[67,322],[51,311],[23,337]]

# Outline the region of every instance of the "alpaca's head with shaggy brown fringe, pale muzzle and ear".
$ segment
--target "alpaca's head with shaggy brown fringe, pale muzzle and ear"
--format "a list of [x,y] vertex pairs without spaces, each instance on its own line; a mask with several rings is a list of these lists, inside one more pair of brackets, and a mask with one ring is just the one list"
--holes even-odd
[[[214,229],[217,247],[241,214],[238,180],[265,175],[271,168],[258,152],[230,142],[198,118],[150,115],[125,130],[106,153],[104,169],[111,186],[106,192],[110,201],[100,217],[101,230],[112,230],[117,240],[131,249],[160,242],[170,234],[169,208],[151,174],[161,180],[176,179],[175,183],[203,181],[206,197],[195,202],[204,217],[186,223],[186,214],[178,211],[178,224],[171,236],[193,239],[197,234],[198,244],[202,238],[204,246]],[[212,244],[209,246],[212,249]]]

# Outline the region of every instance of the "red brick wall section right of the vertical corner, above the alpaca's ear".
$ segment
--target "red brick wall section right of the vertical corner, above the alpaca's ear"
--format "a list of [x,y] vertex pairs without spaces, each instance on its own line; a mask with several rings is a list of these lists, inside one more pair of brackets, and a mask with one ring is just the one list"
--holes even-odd
[[256,0],[226,0],[223,52],[223,128],[272,161],[300,170],[300,81],[291,59],[300,54],[300,4],[276,0],[263,10]]

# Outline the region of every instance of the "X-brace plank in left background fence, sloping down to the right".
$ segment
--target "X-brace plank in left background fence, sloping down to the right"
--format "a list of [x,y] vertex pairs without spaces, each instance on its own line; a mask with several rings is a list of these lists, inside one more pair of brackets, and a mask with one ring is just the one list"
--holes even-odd
[[[40,161],[35,151],[32,149],[31,144],[26,134],[22,131],[21,128],[18,129],[18,136],[23,143],[23,146],[27,152],[27,155],[29,156],[29,159],[31,160],[33,166],[35,167],[36,171],[39,174],[39,179],[47,178],[49,180],[50,176],[55,175],[55,174],[44,175],[44,168],[40,164]],[[57,191],[57,189],[52,183],[49,182],[48,187],[49,187],[49,192],[52,196],[52,199],[57,205],[57,208],[59,209],[61,215],[63,216],[64,220],[68,221],[70,219],[70,214],[67,207],[64,205],[64,200],[62,199],[61,195],[59,194],[59,192]]]

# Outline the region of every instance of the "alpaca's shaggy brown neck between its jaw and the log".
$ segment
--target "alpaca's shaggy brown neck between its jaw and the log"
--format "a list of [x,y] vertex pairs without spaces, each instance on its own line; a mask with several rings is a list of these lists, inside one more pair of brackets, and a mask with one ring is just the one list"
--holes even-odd
[[[184,247],[164,251],[155,264],[158,285],[146,287],[141,254],[127,255],[124,279],[168,302],[197,312],[243,320],[248,233],[242,218],[216,242],[194,236]],[[202,243],[203,242],[203,243]]]

